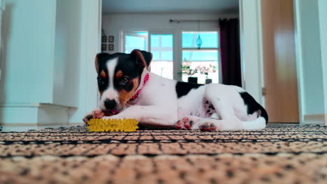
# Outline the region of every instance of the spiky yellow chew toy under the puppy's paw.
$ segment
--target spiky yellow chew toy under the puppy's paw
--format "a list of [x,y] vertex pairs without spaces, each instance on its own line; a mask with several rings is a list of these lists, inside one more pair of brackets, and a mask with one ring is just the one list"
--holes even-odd
[[88,122],[90,132],[135,132],[138,129],[136,119],[91,119]]

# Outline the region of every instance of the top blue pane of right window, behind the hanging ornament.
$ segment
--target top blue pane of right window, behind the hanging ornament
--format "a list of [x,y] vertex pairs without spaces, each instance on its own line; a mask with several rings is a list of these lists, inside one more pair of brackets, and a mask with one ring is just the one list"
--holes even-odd
[[201,48],[218,48],[218,32],[182,32],[182,47],[197,48],[196,39],[200,35],[202,40]]

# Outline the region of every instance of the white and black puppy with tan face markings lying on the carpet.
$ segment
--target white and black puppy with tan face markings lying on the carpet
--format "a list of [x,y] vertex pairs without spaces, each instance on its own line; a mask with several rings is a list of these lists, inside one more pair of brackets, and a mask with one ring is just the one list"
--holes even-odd
[[150,52],[97,54],[100,108],[91,118],[136,118],[142,125],[182,130],[260,130],[268,114],[238,86],[166,79],[148,67]]

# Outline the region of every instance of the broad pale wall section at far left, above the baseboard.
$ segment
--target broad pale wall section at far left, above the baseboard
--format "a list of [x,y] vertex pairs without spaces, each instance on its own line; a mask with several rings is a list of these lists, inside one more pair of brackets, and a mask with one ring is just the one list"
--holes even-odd
[[54,0],[6,0],[1,103],[52,101],[55,10]]

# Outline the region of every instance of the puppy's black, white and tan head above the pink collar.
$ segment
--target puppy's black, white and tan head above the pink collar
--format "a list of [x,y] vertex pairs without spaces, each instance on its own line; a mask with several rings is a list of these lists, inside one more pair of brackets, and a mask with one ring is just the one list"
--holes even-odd
[[147,72],[152,54],[134,49],[131,54],[100,53],[96,55],[100,107],[107,115],[121,111],[142,85],[141,77]]

